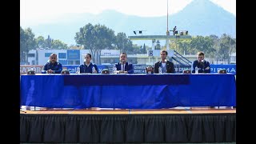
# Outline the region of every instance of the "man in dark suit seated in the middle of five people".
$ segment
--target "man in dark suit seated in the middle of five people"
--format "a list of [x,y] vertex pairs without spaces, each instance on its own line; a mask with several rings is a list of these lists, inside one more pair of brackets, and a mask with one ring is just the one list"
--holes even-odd
[[117,68],[117,74],[134,74],[133,64],[127,62],[126,53],[121,53],[119,60],[120,62],[114,64],[114,66]]

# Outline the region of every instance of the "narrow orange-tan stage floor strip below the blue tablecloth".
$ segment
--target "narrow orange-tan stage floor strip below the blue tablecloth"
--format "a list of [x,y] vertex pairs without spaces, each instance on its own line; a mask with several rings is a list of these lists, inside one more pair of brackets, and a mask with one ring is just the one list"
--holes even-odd
[[20,114],[228,114],[236,113],[231,107],[175,107],[170,109],[45,109],[31,106],[31,110],[20,110]]

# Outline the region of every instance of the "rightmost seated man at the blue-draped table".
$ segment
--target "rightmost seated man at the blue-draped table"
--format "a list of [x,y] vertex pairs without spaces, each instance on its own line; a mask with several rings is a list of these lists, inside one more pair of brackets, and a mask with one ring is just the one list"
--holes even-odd
[[193,62],[192,73],[195,73],[195,67],[198,66],[198,73],[210,73],[210,63],[204,60],[205,54],[202,51],[198,52],[198,60]]

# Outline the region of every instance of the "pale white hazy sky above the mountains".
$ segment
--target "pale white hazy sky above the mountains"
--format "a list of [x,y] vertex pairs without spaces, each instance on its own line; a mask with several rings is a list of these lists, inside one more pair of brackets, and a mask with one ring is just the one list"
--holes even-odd
[[[193,0],[168,0],[169,14],[177,13]],[[236,15],[236,0],[210,0]],[[167,0],[20,0],[21,26],[51,22],[63,14],[91,13],[117,10],[137,16],[164,16]]]

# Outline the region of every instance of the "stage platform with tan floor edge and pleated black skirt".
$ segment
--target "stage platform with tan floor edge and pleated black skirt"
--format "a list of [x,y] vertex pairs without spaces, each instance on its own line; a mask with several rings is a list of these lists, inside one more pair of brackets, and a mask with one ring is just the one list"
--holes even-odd
[[45,109],[20,112],[20,142],[236,142],[236,109]]

